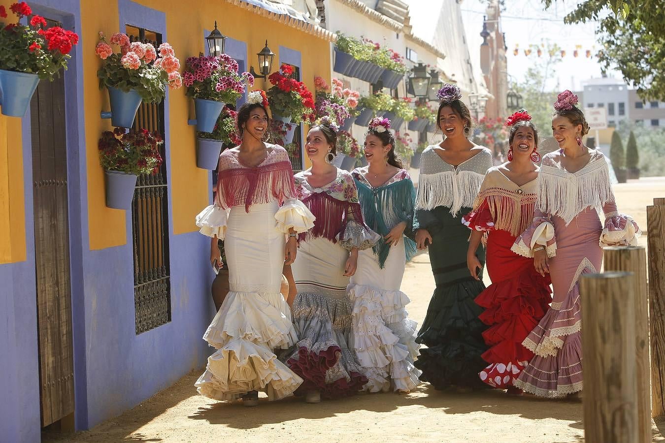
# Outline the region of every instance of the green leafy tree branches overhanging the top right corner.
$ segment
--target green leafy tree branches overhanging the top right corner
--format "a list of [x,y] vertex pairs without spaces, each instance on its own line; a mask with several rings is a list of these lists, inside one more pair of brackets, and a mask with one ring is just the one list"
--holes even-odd
[[[542,0],[550,7],[556,0]],[[644,100],[665,100],[665,7],[662,0],[586,0],[565,23],[598,23],[604,70],[616,68]]]

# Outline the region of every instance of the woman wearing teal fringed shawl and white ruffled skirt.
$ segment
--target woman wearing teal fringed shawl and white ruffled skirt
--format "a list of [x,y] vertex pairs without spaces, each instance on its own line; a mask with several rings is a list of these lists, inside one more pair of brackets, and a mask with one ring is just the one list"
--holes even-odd
[[368,165],[354,169],[362,215],[383,238],[358,253],[358,268],[348,295],[353,303],[355,349],[370,392],[408,393],[420,371],[416,322],[407,318],[409,298],[400,291],[404,264],[416,253],[412,234],[416,192],[409,173],[395,156],[390,120],[374,118],[365,135]]

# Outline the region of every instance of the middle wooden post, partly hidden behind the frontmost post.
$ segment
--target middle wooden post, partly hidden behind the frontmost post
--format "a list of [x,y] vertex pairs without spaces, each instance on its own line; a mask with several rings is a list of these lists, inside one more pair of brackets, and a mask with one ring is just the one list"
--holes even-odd
[[635,362],[637,370],[637,416],[639,443],[649,443],[651,432],[651,370],[649,365],[649,305],[646,290],[646,252],[644,246],[604,248],[604,269],[634,274]]

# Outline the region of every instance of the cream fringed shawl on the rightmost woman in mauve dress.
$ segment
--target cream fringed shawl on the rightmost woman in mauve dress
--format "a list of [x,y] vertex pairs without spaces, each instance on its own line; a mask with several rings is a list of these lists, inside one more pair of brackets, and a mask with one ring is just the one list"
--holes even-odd
[[537,205],[543,213],[557,215],[569,224],[585,209],[602,211],[605,203],[614,201],[602,152],[596,151],[589,163],[574,173],[566,171],[558,158],[558,151],[545,155],[538,175]]

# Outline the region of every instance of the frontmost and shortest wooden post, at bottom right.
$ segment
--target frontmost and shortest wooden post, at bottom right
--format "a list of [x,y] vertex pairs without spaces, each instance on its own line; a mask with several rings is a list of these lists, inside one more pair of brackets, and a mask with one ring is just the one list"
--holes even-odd
[[638,441],[632,272],[580,279],[587,443]]

